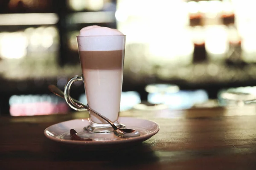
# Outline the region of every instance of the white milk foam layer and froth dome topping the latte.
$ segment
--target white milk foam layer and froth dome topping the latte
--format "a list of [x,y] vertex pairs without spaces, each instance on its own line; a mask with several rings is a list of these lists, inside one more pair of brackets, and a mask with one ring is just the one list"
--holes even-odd
[[79,51],[122,50],[125,48],[125,38],[119,35],[123,35],[122,32],[108,27],[84,27],[77,37]]

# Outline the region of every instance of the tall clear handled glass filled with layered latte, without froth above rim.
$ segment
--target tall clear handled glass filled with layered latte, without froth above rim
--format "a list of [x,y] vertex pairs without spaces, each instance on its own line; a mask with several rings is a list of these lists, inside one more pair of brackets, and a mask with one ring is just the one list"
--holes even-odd
[[[125,35],[77,36],[81,76],[69,79],[65,86],[65,99],[76,111],[83,111],[69,96],[73,82],[83,81],[88,106],[119,125],[119,109],[122,92]],[[84,129],[92,133],[111,132],[112,127],[93,112],[90,125]]]

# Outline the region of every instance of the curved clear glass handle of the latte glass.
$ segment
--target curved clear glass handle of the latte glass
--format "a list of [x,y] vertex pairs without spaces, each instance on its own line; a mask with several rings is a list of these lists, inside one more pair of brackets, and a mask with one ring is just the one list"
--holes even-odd
[[65,89],[64,89],[65,100],[66,100],[67,104],[70,106],[70,108],[73,108],[75,111],[87,111],[87,109],[83,108],[82,106],[80,106],[79,104],[74,102],[70,96],[71,85],[77,81],[83,81],[83,76],[82,75],[74,76],[68,80],[67,84],[65,85]]

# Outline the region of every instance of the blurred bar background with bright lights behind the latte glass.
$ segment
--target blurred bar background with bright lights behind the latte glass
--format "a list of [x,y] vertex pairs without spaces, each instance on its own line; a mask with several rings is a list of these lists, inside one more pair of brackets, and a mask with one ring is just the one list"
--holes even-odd
[[[127,35],[121,111],[247,104],[256,99],[255,6],[255,0],[1,0],[0,114],[71,111],[47,86],[64,89],[81,74],[76,36],[91,25]],[[83,84],[71,93],[86,102]]]

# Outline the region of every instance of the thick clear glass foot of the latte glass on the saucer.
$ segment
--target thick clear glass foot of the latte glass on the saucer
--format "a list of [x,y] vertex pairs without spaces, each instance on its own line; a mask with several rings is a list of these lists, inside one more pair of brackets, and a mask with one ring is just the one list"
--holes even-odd
[[[119,127],[122,129],[126,128],[126,126],[122,125],[122,124],[117,124],[116,127]],[[91,125],[84,127],[84,131],[89,132],[89,133],[112,133],[113,128],[109,124],[92,123]]]

